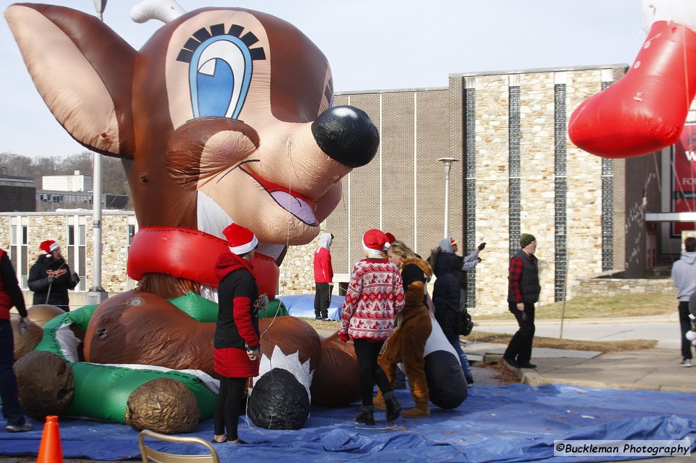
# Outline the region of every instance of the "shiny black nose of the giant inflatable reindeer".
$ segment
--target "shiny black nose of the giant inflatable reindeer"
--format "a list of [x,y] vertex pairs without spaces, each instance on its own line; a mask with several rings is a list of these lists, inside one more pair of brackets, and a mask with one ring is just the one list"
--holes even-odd
[[319,114],[312,134],[331,159],[349,167],[372,161],[379,146],[379,132],[370,116],[352,106],[337,106]]

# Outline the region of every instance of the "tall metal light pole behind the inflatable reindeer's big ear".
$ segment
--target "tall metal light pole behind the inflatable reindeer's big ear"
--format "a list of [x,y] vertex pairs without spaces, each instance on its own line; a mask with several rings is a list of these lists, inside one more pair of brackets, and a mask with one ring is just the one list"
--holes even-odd
[[[93,0],[97,17],[103,22],[106,0]],[[102,288],[102,155],[95,152],[93,160],[92,186],[92,286],[87,292],[88,305],[99,304],[108,294]]]

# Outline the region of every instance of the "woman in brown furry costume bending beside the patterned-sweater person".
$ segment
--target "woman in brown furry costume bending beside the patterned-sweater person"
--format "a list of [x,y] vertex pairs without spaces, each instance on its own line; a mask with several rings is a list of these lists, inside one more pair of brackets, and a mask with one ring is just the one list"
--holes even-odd
[[[424,352],[432,323],[425,305],[425,283],[432,276],[432,269],[428,262],[416,257],[403,242],[393,242],[387,254],[389,260],[401,269],[406,305],[399,315],[398,329],[392,332],[379,359],[379,366],[386,372],[389,381],[393,382],[396,364],[404,363],[416,407],[404,411],[402,416],[427,418],[430,416],[430,395],[425,377]],[[384,407],[383,398],[379,394],[374,400],[374,407]]]

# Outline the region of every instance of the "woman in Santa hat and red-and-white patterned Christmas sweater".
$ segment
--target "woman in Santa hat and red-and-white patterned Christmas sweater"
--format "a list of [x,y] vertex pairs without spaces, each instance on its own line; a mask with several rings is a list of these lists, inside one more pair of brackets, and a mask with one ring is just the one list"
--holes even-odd
[[382,345],[405,301],[399,268],[382,255],[388,247],[389,239],[380,230],[373,228],[363,235],[365,259],[353,266],[338,329],[343,342],[353,340],[362,399],[355,422],[364,425],[374,425],[374,384],[386,402],[387,421],[399,418],[401,413],[389,379],[377,363]]

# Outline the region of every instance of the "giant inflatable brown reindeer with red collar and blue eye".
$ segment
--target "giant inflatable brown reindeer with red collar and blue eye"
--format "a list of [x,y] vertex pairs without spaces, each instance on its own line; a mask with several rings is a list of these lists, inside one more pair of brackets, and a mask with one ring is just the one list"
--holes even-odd
[[[235,222],[257,235],[252,263],[263,276],[260,292],[274,297],[286,245],[319,233],[340,201],[341,178],[370,162],[379,144],[363,111],[332,108],[329,63],[291,24],[251,10],[184,13],[164,3],[134,10],[140,21],[152,13],[166,22],[140,51],[70,8],[17,3],[5,13],[58,122],[90,150],[123,159],[140,225],[128,261],[138,289],[59,315],[17,363],[22,397],[37,416],[163,432],[195,427],[191,407],[211,416],[210,378],[180,370],[213,371],[213,264],[228,249],[222,230]],[[306,331],[301,323],[264,329]],[[316,370],[326,343],[310,331],[302,339],[276,333],[276,346],[262,338],[264,352],[278,347]],[[27,379],[35,374],[45,376]],[[148,410],[152,400],[166,404]],[[195,418],[176,427],[182,416]]]

